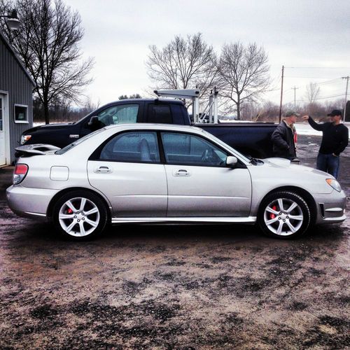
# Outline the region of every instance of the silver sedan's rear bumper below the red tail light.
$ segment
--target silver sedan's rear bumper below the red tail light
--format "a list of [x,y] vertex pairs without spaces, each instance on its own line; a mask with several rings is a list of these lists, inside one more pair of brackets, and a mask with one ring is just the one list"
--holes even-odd
[[8,207],[19,216],[46,218],[48,205],[58,190],[10,186],[6,190]]

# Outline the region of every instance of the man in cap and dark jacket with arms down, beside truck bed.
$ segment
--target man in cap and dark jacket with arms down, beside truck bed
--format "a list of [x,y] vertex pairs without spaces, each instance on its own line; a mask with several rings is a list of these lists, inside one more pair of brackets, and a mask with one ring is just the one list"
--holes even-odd
[[295,152],[295,127],[294,123],[300,114],[295,111],[287,111],[285,118],[272,133],[272,151],[275,157],[293,160],[296,158]]

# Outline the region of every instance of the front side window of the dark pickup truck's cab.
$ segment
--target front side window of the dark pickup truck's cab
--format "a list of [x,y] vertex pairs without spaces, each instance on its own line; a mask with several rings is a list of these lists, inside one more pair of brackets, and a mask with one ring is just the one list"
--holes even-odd
[[102,126],[137,123],[139,104],[118,104],[97,114]]

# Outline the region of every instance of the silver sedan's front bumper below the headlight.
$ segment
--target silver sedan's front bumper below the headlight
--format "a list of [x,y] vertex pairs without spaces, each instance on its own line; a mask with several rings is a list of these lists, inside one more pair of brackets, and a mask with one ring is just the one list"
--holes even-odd
[[330,195],[314,195],[317,207],[316,224],[342,223],[346,219],[346,195],[333,190]]

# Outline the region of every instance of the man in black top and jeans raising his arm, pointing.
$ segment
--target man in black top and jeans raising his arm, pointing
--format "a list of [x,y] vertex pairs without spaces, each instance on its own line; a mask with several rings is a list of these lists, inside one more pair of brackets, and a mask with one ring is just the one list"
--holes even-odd
[[338,109],[333,110],[327,116],[330,116],[330,122],[323,124],[316,123],[310,116],[303,116],[302,119],[307,120],[315,130],[322,132],[316,168],[328,172],[337,179],[339,155],[349,143],[349,130],[344,124],[340,123],[342,112]]

